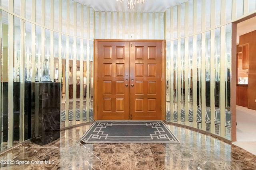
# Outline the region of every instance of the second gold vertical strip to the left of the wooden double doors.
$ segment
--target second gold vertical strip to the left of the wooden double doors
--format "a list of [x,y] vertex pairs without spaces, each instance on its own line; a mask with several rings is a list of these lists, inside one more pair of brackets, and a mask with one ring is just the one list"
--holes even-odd
[[[84,61],[83,61],[83,40],[80,39],[80,123],[83,123],[83,103],[84,103]],[[86,90],[86,89],[85,89]]]

